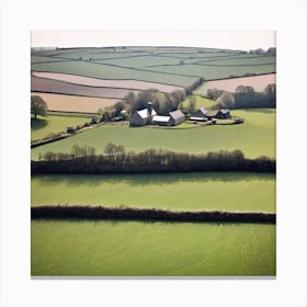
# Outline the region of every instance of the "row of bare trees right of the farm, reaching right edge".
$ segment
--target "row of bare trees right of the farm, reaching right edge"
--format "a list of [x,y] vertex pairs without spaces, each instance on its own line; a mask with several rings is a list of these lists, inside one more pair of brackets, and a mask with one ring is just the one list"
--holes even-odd
[[[218,91],[214,90],[211,90],[211,93],[218,93]],[[254,91],[252,87],[239,86],[235,93],[219,91],[219,94],[216,99],[216,104],[213,106],[215,110],[276,106],[275,83],[266,86],[262,92]]]

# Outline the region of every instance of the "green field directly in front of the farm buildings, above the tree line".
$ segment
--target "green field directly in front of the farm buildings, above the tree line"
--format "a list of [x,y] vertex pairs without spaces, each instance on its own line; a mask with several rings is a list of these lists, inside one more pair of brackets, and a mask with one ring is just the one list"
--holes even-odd
[[275,110],[236,110],[232,115],[245,118],[240,125],[211,125],[186,129],[155,127],[130,128],[127,125],[104,125],[76,136],[33,148],[32,159],[39,152],[70,152],[75,144],[90,145],[103,152],[107,143],[124,145],[127,150],[143,151],[148,148],[173,151],[207,152],[241,149],[249,158],[275,157]]

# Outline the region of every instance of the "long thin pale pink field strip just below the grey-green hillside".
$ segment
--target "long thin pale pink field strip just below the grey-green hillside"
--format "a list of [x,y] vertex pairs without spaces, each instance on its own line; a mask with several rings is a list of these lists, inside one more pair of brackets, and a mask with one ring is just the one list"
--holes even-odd
[[90,87],[107,87],[107,88],[135,89],[135,90],[157,89],[162,92],[173,92],[175,90],[183,90],[183,88],[181,87],[137,81],[137,80],[103,80],[103,79],[95,79],[90,77],[81,77],[76,75],[55,73],[55,72],[33,72],[33,76],[81,84],[81,86],[90,86]]

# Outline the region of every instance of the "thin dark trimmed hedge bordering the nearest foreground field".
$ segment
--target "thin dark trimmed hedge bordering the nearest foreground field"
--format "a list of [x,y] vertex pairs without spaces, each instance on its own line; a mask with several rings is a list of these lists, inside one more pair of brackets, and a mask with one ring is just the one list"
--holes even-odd
[[197,223],[276,223],[275,213],[198,211],[179,212],[157,208],[45,205],[31,208],[32,219],[121,219]]

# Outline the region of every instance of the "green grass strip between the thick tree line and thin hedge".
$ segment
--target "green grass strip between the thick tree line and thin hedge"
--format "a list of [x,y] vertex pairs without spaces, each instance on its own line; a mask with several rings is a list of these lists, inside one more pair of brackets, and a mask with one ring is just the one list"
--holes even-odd
[[275,212],[275,175],[234,172],[32,175],[31,198],[32,205]]

